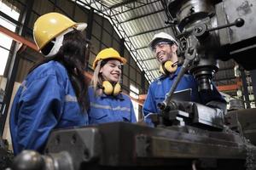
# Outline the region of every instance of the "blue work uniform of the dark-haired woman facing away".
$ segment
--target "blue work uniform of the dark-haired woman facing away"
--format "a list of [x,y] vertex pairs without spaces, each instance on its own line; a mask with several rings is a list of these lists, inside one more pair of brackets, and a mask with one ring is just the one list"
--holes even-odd
[[52,129],[87,125],[88,115],[79,107],[65,67],[49,61],[22,82],[9,122],[16,155],[21,150],[42,152]]

